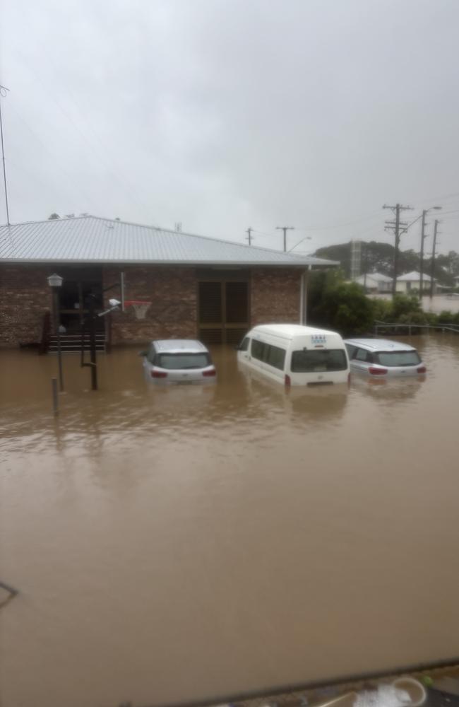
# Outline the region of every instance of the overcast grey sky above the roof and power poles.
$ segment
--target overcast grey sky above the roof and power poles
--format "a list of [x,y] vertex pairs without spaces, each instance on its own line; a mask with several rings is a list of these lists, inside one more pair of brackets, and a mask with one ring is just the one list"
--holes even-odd
[[266,247],[287,225],[311,252],[393,242],[400,201],[441,204],[459,250],[458,37],[458,0],[3,0],[11,221],[251,226]]

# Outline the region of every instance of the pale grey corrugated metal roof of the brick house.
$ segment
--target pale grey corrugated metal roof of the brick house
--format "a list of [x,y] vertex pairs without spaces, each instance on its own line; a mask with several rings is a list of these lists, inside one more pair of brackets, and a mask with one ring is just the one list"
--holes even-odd
[[97,216],[0,227],[0,261],[221,265],[332,265],[278,250]]

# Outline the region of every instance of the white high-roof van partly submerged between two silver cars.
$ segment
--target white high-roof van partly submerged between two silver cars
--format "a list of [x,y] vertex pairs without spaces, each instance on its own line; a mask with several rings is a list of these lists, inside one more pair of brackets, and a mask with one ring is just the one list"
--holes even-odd
[[350,380],[349,358],[336,332],[296,324],[254,327],[237,360],[285,385],[330,385]]

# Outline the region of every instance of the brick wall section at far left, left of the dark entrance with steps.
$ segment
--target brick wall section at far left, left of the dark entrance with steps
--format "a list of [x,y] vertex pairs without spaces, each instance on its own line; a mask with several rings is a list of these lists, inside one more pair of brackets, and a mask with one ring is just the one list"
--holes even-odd
[[49,267],[0,265],[0,346],[40,341],[44,313],[52,311]]

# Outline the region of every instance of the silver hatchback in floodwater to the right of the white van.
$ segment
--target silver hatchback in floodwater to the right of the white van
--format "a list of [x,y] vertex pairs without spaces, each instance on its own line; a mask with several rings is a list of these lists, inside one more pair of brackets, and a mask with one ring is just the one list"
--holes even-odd
[[366,375],[423,375],[426,367],[413,346],[388,339],[346,339],[351,370]]

